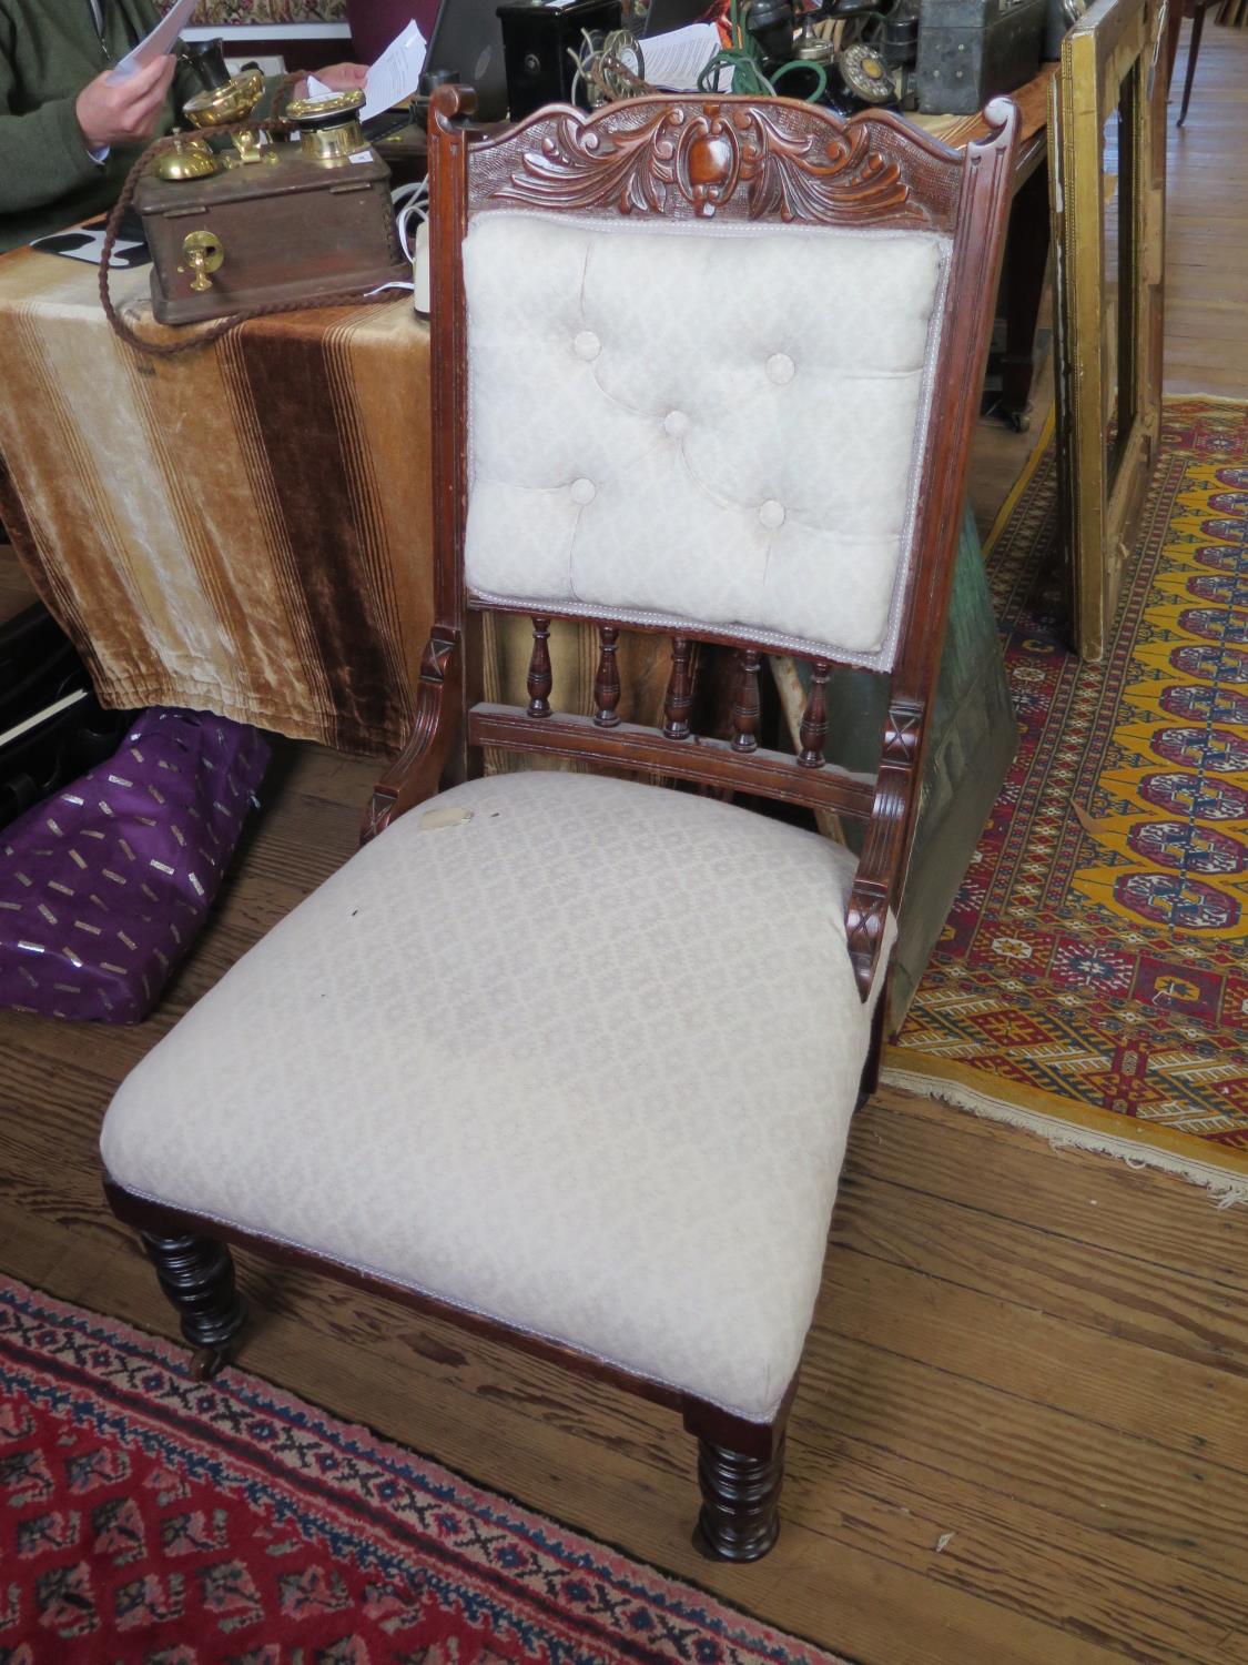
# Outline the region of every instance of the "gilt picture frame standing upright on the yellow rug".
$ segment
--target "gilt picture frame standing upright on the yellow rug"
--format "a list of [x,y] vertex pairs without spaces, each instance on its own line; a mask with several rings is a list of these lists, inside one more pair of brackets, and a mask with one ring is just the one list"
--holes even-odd
[[1073,644],[1093,661],[1161,425],[1168,3],[1097,0],[1050,93],[1058,513]]

